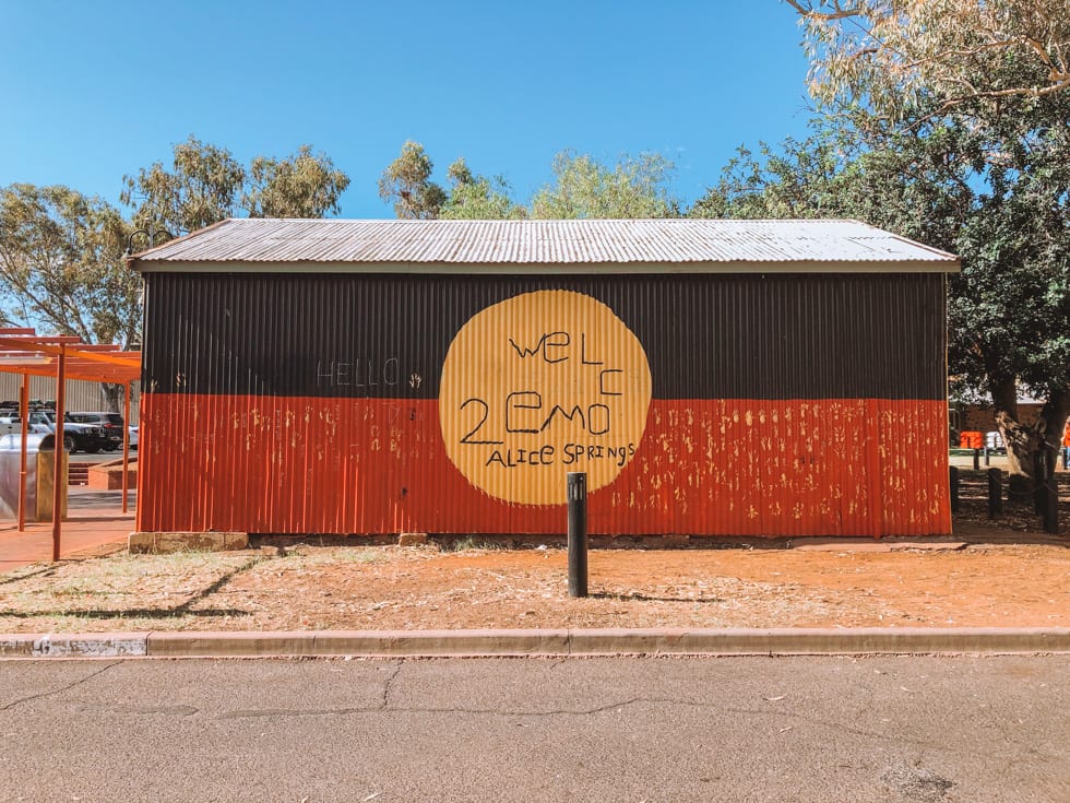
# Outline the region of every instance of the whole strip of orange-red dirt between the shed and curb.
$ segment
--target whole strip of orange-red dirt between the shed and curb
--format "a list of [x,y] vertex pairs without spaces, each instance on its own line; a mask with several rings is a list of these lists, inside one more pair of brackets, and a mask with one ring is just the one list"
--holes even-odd
[[343,539],[289,542],[285,556],[262,546],[64,560],[0,577],[0,631],[1070,627],[1067,507],[1058,535],[1038,532],[1030,510],[988,522],[972,499],[954,542],[593,550],[580,600],[559,547]]

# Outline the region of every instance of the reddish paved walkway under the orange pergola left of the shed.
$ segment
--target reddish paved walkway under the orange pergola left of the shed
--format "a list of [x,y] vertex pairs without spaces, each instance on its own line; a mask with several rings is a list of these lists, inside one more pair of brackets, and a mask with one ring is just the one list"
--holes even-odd
[[[68,518],[63,521],[60,559],[85,557],[86,553],[102,554],[126,546],[134,529],[134,500],[130,494],[130,511],[122,512],[119,491],[71,488]],[[0,521],[0,571],[11,571],[40,560],[51,560],[51,522],[28,523],[19,532],[19,522]]]

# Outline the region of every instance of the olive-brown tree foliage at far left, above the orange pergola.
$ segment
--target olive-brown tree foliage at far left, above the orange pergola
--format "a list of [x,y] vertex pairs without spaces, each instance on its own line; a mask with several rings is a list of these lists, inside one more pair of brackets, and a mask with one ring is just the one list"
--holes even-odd
[[0,189],[8,321],[87,343],[135,342],[141,281],[122,264],[128,231],[114,206],[67,187]]

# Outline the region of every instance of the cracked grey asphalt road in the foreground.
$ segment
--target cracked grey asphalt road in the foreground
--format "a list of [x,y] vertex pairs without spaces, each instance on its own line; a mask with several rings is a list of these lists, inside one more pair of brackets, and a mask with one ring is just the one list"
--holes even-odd
[[1070,657],[0,662],[4,801],[1070,801]]

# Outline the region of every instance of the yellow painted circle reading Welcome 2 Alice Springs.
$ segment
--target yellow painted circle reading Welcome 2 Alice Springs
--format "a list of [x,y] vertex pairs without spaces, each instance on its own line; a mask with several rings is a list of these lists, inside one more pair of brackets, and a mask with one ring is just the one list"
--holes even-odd
[[450,460],[491,496],[563,505],[566,474],[611,483],[646,427],[650,364],[602,302],[538,291],[480,310],[442,366],[439,420]]

